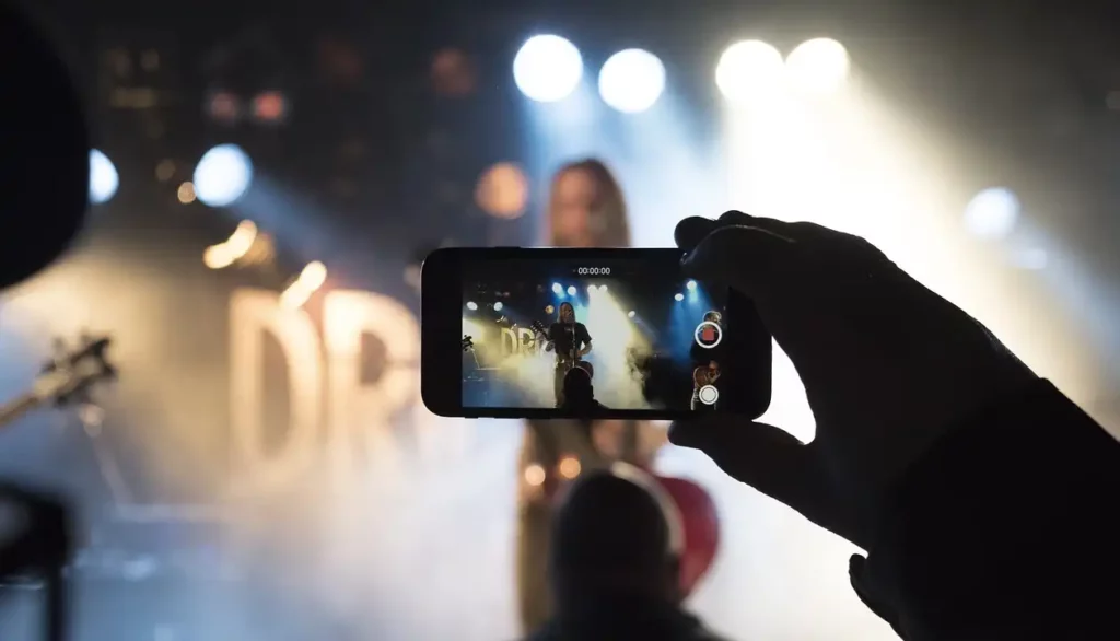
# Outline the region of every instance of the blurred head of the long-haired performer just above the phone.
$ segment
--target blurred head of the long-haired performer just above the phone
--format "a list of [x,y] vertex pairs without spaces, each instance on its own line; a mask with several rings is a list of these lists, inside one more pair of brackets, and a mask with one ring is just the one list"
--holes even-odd
[[600,160],[588,158],[557,170],[548,216],[553,247],[629,247],[622,187]]

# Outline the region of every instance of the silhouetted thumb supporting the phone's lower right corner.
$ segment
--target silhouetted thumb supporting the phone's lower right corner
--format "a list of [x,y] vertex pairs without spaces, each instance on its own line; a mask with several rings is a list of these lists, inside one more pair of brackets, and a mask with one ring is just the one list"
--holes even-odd
[[732,479],[797,511],[821,500],[810,447],[772,425],[712,415],[673,422],[669,442],[703,452]]

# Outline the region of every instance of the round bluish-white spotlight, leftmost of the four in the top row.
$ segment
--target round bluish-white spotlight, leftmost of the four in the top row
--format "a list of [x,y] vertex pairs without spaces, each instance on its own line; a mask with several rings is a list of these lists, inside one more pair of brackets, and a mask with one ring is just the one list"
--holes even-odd
[[560,36],[533,36],[513,58],[513,80],[530,100],[557,102],[576,91],[584,76],[579,49]]

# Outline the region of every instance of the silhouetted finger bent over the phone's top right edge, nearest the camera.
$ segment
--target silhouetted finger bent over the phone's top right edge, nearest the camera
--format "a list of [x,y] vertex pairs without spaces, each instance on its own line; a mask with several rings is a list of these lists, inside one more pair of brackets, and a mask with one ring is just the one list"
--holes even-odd
[[726,226],[708,234],[681,266],[689,276],[764,301],[788,288],[794,251],[793,241],[766,230]]

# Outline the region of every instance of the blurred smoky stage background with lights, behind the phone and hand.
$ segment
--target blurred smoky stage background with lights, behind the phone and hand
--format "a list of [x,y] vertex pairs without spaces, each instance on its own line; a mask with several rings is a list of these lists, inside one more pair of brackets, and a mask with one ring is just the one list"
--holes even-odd
[[[640,245],[732,207],[865,235],[1120,435],[1120,16],[1095,4],[28,2],[85,100],[92,213],[0,296],[0,397],[81,331],[121,372],[0,435],[0,473],[81,507],[74,639],[517,634],[522,430],[420,405],[419,261],[540,242],[584,156]],[[781,354],[768,419],[812,437]],[[657,464],[719,505],[715,629],[894,638],[848,544]],[[36,594],[0,638],[36,633]]]

